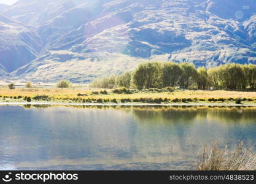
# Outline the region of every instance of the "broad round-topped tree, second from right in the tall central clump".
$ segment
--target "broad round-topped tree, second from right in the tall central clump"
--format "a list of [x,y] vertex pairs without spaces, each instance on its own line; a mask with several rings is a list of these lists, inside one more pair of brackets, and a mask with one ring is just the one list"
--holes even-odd
[[162,81],[163,87],[174,87],[180,80],[182,75],[182,68],[179,64],[174,62],[164,63],[162,66]]

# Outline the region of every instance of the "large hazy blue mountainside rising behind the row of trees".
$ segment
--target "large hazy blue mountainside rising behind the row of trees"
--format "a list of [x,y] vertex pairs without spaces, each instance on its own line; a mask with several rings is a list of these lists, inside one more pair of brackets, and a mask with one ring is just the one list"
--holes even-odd
[[0,20],[6,25],[0,43],[12,46],[0,59],[0,74],[89,82],[149,60],[256,64],[255,2],[20,0],[0,10],[9,20]]

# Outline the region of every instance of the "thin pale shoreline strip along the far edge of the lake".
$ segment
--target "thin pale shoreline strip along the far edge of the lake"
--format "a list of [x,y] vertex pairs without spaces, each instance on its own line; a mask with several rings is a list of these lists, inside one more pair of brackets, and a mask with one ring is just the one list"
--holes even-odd
[[201,103],[201,102],[190,102],[190,103],[168,103],[168,104],[155,104],[155,103],[66,103],[66,102],[0,102],[0,105],[63,105],[63,106],[211,106],[211,107],[256,107],[256,104],[235,104],[235,103]]

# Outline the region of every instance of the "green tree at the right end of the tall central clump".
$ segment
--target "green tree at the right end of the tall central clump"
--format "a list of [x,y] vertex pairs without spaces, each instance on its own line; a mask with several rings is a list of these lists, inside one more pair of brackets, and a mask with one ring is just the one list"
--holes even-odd
[[180,78],[180,86],[188,88],[188,86],[195,83],[196,80],[196,69],[193,63],[182,63],[182,76]]

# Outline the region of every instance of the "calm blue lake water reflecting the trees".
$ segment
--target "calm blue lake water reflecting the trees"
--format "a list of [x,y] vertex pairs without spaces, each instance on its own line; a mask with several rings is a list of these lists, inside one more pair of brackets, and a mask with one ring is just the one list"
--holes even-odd
[[192,169],[204,144],[255,132],[253,107],[0,106],[0,170]]

